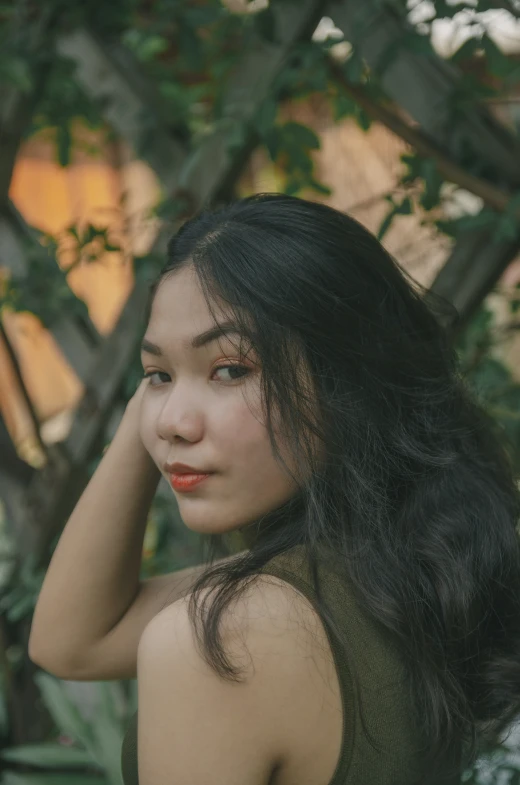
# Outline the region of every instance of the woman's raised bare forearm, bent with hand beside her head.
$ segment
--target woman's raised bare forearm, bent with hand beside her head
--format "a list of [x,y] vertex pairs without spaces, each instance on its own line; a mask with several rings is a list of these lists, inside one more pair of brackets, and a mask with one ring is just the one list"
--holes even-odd
[[29,656],[68,673],[138,595],[146,520],[160,472],[139,435],[142,386],[61,534],[36,604]]

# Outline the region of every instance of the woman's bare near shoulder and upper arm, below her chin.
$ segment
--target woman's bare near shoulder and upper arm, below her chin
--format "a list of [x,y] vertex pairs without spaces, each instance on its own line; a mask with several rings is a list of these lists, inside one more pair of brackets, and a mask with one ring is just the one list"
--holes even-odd
[[[230,602],[219,633],[242,673],[236,682],[202,656],[190,596],[161,611],[139,644],[140,782],[161,785],[164,777],[196,785],[211,771],[215,785],[266,785],[287,767],[308,774],[307,757],[319,768],[324,750],[332,756],[325,773],[333,771],[339,688],[327,635],[307,598],[279,578],[259,575]],[[211,602],[211,591],[201,598]]]

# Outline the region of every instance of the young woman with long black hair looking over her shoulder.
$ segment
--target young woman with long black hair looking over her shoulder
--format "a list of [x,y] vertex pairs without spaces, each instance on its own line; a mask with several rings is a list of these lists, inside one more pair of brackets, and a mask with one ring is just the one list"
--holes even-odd
[[[294,197],[171,240],[145,380],[31,636],[69,678],[137,675],[127,785],[458,783],[520,712],[519,491],[433,302],[356,221]],[[161,475],[215,547],[152,601]],[[72,625],[67,657],[49,621]]]

